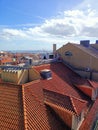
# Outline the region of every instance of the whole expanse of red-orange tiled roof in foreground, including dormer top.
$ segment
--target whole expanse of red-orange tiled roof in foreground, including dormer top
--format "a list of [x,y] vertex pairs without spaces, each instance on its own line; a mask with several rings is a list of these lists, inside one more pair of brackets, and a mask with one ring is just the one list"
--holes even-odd
[[[67,110],[70,114],[76,115],[81,112],[82,108],[85,108],[87,118],[84,120],[81,130],[88,124],[87,129],[83,130],[89,130],[91,121],[93,123],[94,120],[93,114],[98,112],[97,100],[93,103],[88,96],[73,86],[72,78],[77,79],[79,76],[62,63],[34,66],[33,68],[38,72],[44,69],[51,70],[52,79],[41,78],[23,85],[0,84],[0,128],[7,130],[69,130],[52,108],[55,110],[59,108],[60,112]],[[93,85],[95,85],[94,82]],[[92,120],[90,120],[91,118]],[[86,121],[87,119],[89,122]]]

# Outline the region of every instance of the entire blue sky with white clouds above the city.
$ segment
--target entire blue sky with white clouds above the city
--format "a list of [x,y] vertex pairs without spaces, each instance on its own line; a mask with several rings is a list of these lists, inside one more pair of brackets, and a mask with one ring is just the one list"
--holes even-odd
[[0,0],[0,50],[98,39],[97,0]]

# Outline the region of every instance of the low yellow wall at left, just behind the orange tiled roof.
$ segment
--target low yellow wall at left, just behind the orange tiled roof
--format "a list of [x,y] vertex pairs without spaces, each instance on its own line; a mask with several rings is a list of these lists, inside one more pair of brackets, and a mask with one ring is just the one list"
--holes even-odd
[[40,79],[39,73],[31,69],[24,69],[15,71],[2,71],[1,78],[4,82],[11,82],[16,84],[24,84],[33,80]]

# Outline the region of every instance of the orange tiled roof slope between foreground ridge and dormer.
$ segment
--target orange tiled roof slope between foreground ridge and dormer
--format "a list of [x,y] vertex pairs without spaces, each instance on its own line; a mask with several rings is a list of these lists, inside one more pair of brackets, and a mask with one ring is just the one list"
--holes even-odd
[[61,121],[53,116],[51,111],[44,105],[42,86],[39,83],[24,85],[22,88],[26,113],[25,128],[28,130],[67,130]]

